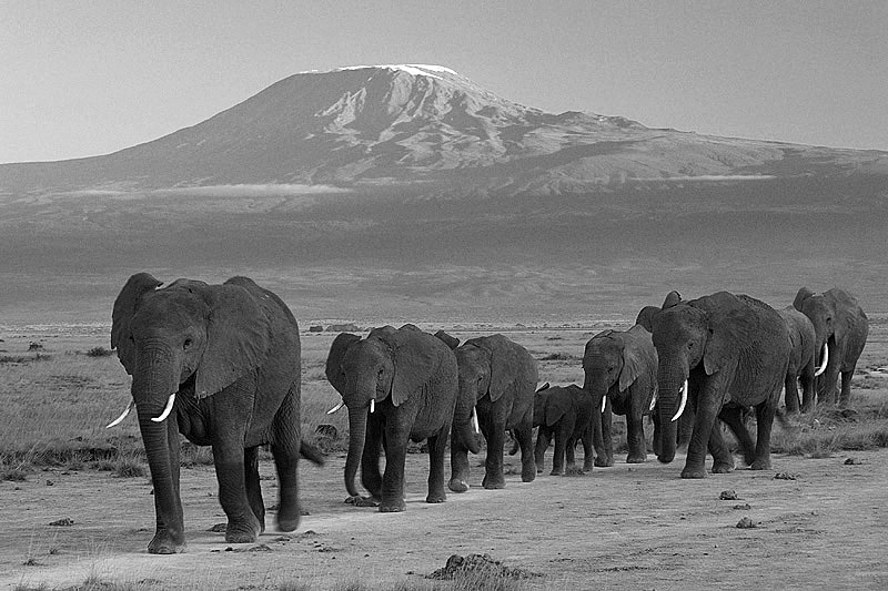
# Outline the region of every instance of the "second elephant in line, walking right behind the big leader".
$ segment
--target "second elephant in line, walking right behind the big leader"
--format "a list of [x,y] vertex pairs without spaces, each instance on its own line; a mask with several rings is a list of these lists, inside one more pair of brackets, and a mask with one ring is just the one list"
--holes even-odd
[[[349,408],[345,489],[357,506],[381,512],[406,509],[404,462],[408,440],[428,440],[426,502],[444,502],[444,456],[451,427],[455,440],[478,452],[471,427],[474,398],[461,396],[456,356],[413,325],[374,328],[365,337],[341,333],[330,347],[326,378]],[[332,411],[331,410],[331,411]],[[385,450],[385,471],[380,454]],[[354,485],[357,466],[369,498]]]

